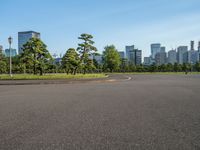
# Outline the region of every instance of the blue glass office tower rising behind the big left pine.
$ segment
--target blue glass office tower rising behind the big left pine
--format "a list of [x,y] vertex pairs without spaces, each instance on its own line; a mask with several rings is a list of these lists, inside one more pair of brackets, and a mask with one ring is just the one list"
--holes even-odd
[[18,32],[18,52],[19,54],[22,53],[22,47],[26,44],[31,38],[39,38],[40,33],[35,31],[25,31],[25,32]]

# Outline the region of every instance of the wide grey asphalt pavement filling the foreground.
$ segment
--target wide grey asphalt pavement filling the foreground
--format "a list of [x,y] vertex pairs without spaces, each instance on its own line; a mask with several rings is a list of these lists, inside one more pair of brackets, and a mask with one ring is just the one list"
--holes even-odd
[[0,86],[0,150],[200,150],[200,76],[129,76]]

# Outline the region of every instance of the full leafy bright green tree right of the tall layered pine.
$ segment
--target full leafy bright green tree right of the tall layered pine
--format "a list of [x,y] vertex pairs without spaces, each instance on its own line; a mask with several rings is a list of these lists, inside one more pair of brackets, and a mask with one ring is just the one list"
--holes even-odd
[[121,64],[120,55],[114,45],[106,46],[103,52],[104,67],[108,68],[110,72],[119,69]]

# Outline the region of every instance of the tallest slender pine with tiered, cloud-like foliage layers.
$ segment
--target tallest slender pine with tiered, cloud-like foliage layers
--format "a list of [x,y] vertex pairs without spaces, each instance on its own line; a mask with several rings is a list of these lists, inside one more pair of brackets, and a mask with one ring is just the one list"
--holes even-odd
[[[97,52],[97,48],[93,46],[95,42],[92,40],[93,36],[90,34],[81,34],[81,36],[78,37],[78,39],[83,40],[82,43],[78,44],[77,48],[77,51],[80,55],[79,66],[86,69],[88,62],[90,61],[89,56],[95,54],[95,52]],[[75,68],[74,74],[76,74],[77,69],[78,66]]]

